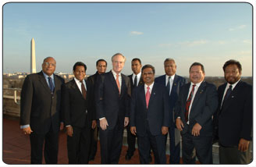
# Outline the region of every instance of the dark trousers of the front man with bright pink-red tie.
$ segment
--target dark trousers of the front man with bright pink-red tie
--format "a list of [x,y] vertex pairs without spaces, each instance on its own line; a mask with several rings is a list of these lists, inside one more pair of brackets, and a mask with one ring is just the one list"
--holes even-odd
[[149,164],[148,153],[153,150],[155,156],[155,164],[166,164],[165,141],[166,135],[153,136],[147,127],[143,137],[137,136],[137,144],[140,154],[140,164]]

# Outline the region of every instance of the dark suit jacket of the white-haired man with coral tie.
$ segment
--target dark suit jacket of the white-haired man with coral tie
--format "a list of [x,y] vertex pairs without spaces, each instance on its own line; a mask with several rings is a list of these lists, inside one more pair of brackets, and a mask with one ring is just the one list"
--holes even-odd
[[112,130],[118,121],[123,125],[124,117],[129,117],[130,79],[123,73],[121,77],[121,94],[119,94],[112,71],[98,76],[96,83],[96,119],[105,117],[109,130]]

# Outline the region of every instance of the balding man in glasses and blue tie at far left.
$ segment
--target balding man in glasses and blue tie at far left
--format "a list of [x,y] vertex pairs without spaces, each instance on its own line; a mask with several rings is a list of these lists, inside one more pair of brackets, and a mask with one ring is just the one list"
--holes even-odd
[[62,130],[61,97],[64,80],[54,74],[56,61],[44,59],[42,71],[26,77],[21,91],[20,128],[30,135],[31,164],[58,162],[58,136]]

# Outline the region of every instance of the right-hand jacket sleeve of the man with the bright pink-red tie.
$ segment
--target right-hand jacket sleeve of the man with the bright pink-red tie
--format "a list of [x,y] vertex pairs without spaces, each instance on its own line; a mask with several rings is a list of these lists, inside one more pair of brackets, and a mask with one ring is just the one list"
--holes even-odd
[[162,126],[173,126],[171,125],[172,123],[172,114],[170,111],[170,103],[169,103],[169,94],[167,93],[167,91],[165,91],[165,87],[162,87],[163,90],[163,102],[164,102],[164,119],[163,119],[163,124]]

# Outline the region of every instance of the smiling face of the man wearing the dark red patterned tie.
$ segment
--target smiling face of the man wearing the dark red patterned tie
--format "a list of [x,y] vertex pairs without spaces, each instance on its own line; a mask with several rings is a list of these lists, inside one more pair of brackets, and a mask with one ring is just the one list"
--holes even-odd
[[190,80],[192,83],[197,84],[204,80],[204,73],[201,66],[192,66],[190,69]]

